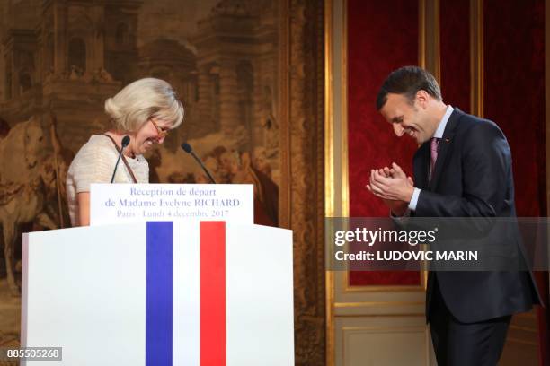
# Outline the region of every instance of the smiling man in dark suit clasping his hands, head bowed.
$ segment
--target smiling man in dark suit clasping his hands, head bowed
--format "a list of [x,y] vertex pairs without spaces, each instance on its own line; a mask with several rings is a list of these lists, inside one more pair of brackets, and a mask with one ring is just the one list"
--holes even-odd
[[[435,78],[416,66],[388,75],[377,109],[395,135],[421,145],[413,180],[395,163],[371,171],[367,187],[393,215],[515,217],[510,147],[492,121],[446,105]],[[515,225],[492,235],[521,245]],[[511,315],[538,302],[529,272],[430,272],[426,316],[439,366],[496,365]]]

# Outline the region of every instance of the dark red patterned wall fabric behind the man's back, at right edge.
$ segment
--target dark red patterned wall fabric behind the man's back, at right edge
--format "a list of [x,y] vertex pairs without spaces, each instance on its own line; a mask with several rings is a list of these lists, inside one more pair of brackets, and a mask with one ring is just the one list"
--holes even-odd
[[[545,1],[484,0],[484,116],[507,136],[518,216],[546,216]],[[548,273],[537,273],[541,364],[550,362]]]

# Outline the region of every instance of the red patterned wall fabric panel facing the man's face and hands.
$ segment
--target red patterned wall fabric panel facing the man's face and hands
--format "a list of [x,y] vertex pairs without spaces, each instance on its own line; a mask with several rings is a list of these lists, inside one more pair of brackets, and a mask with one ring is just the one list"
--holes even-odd
[[[348,2],[348,149],[350,216],[387,217],[389,211],[365,185],[370,170],[392,161],[412,175],[412,139],[398,139],[376,109],[387,74],[418,64],[418,2]],[[419,284],[416,272],[350,272],[350,284]]]

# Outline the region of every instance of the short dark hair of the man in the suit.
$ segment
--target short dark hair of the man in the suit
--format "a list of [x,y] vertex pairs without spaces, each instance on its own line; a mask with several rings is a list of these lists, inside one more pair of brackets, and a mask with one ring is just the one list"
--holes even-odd
[[382,84],[377,96],[377,110],[384,107],[390,92],[404,95],[412,104],[418,91],[425,91],[436,100],[442,100],[439,84],[432,74],[418,66],[398,68]]

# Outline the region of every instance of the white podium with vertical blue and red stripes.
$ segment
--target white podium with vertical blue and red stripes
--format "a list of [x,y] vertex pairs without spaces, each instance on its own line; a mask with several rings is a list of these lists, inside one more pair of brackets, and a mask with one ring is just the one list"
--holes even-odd
[[293,365],[293,335],[292,231],[182,220],[23,235],[22,347],[62,347],[51,365]]

